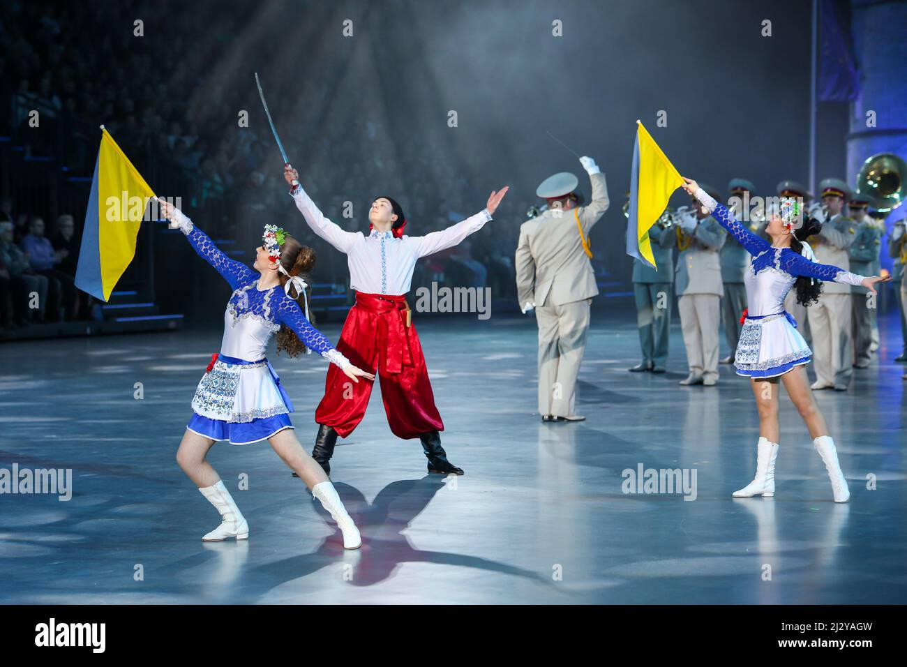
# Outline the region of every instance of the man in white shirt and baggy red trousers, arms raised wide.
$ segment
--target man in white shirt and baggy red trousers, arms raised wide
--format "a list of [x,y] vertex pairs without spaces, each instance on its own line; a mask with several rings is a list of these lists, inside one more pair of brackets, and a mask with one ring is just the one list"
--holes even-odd
[[[412,324],[406,292],[420,257],[451,248],[492,219],[508,188],[492,192],[483,211],[446,230],[424,236],[404,236],[403,209],[390,197],[378,197],[368,211],[371,232],[345,231],[318,211],[306,191],[298,185],[298,173],[291,165],[284,169],[290,194],[308,226],[332,246],[346,253],[350,287],[356,303],[346,316],[337,350],[359,368],[377,368],[387,423],[397,437],[422,441],[428,457],[428,472],[463,475],[447,460],[439,431],[444,422],[434,407],[432,384],[422,346]],[[297,185],[293,186],[293,181]],[[366,415],[373,380],[357,384],[346,376],[327,371],[325,397],[315,412],[318,435],[312,457],[330,474],[330,458],[337,436],[346,437]]]

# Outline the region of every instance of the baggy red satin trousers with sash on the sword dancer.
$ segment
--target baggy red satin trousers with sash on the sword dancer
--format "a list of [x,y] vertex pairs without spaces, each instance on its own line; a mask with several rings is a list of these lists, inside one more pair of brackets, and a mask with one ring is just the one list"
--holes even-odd
[[[444,430],[419,336],[414,326],[406,326],[405,295],[356,292],[356,304],[346,315],[336,348],[363,370],[374,373],[377,368],[387,424],[395,436],[408,439]],[[327,369],[325,397],[315,420],[333,427],[341,437],[351,434],[366,416],[374,382],[358,379],[347,378],[336,364]]]

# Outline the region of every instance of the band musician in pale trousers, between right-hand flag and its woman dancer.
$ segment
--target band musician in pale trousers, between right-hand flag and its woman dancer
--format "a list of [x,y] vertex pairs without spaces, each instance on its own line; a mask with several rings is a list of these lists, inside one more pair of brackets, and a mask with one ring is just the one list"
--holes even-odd
[[[701,187],[720,197],[714,188]],[[699,201],[692,202],[695,213],[681,217],[677,230],[675,286],[689,367],[680,384],[712,386],[718,380],[718,319],[724,295],[718,252],[727,234]]]

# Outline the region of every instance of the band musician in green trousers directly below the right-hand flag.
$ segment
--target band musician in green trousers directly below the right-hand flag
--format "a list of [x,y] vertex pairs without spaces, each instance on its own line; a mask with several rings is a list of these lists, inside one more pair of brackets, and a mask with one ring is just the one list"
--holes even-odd
[[649,243],[658,270],[633,260],[633,297],[642,361],[631,372],[664,373],[668,362],[671,309],[674,299],[674,248],[678,235],[661,221],[649,228]]

